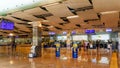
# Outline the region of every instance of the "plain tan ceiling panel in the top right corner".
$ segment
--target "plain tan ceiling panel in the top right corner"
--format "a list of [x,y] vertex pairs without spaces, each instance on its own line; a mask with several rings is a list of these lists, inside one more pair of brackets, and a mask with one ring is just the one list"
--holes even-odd
[[120,0],[92,0],[97,12],[120,10]]

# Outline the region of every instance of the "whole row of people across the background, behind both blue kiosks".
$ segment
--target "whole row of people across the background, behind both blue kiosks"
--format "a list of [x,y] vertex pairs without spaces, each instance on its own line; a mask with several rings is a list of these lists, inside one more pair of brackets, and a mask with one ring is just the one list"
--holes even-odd
[[[61,47],[67,47],[66,41],[57,41],[57,42],[60,43]],[[79,49],[83,48],[84,50],[103,48],[103,49],[116,51],[118,49],[118,41],[112,41],[112,40],[107,40],[107,41],[105,41],[105,40],[73,41],[70,43],[70,47],[72,47],[74,43],[76,43],[78,45]],[[43,46],[44,47],[55,47],[55,44],[54,44],[54,42],[44,43]]]

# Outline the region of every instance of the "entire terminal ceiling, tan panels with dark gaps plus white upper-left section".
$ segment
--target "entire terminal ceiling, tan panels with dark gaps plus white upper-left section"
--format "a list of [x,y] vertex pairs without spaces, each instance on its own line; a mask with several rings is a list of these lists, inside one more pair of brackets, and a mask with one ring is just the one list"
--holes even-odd
[[0,30],[1,35],[32,34],[29,22],[41,21],[43,34],[86,29],[119,31],[120,0],[3,0],[0,18],[14,22],[14,30]]

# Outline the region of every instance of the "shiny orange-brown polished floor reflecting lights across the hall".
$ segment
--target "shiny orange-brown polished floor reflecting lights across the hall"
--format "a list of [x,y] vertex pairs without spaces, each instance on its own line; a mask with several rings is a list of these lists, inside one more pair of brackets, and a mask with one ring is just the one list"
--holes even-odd
[[29,46],[18,46],[16,52],[10,47],[0,47],[0,68],[119,68],[117,54],[105,49],[81,49],[77,59],[73,59],[71,49],[66,48],[61,48],[59,58],[55,57],[54,48],[42,48],[42,56],[37,58],[28,58],[29,50]]

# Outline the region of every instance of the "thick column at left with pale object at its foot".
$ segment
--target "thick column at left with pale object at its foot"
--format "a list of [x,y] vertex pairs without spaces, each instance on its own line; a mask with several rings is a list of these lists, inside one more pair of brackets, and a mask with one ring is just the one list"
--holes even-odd
[[39,21],[32,22],[33,25],[33,37],[32,37],[32,47],[29,54],[29,57],[38,57],[41,56],[41,41],[42,41],[42,31],[41,23]]

